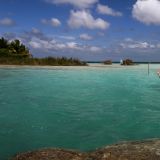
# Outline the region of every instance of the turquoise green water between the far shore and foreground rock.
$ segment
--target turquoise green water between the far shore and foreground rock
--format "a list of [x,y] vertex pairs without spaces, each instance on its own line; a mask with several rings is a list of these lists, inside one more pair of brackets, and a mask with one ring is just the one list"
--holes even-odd
[[1,67],[0,160],[160,137],[160,65]]

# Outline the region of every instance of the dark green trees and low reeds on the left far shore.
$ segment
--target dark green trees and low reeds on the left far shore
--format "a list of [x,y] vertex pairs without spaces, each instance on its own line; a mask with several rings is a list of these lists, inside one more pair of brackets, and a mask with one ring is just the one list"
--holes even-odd
[[33,58],[29,49],[19,40],[9,42],[3,37],[0,39],[0,64],[3,65],[50,65],[50,66],[82,66],[86,65],[73,58]]

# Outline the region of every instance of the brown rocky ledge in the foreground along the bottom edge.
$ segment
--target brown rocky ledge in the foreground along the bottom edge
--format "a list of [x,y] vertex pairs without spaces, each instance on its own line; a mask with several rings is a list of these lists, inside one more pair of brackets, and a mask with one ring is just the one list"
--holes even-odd
[[155,160],[160,159],[160,139],[121,142],[91,152],[45,148],[20,153],[11,160]]

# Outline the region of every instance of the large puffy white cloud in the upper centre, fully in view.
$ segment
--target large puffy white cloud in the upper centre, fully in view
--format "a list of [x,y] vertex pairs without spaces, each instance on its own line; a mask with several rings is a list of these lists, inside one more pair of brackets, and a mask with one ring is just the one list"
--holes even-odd
[[101,18],[95,19],[89,11],[71,11],[70,19],[68,20],[68,25],[71,28],[85,27],[88,29],[107,29],[110,24]]

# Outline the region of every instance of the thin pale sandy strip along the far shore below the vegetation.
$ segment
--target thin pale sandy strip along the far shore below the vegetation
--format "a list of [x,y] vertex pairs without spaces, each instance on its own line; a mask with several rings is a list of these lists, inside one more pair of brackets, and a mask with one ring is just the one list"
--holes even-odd
[[[41,66],[41,65],[0,65],[0,69],[48,69],[48,70],[144,70],[148,73],[148,64],[138,65],[120,65],[113,63],[112,65],[89,63],[86,66]],[[160,64],[150,64],[149,70],[157,73],[160,70]]]

